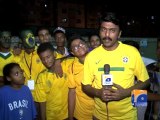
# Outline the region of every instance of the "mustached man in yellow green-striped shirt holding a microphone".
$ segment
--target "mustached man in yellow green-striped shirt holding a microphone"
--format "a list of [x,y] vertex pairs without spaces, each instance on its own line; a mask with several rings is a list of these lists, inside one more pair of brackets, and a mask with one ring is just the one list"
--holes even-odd
[[[99,35],[102,45],[91,51],[84,63],[82,89],[95,99],[94,120],[137,120],[131,103],[131,91],[145,89],[149,77],[139,51],[118,41],[120,21],[116,14],[102,15]],[[104,65],[110,65],[113,86],[103,89]],[[134,85],[134,77],[138,83]],[[92,87],[94,84],[94,87]]]

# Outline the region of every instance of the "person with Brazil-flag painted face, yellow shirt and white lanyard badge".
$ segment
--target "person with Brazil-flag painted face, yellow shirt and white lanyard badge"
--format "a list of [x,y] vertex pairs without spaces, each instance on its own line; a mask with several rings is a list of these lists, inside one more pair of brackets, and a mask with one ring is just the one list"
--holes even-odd
[[45,69],[35,46],[35,38],[31,30],[23,30],[21,38],[24,46],[22,51],[21,60],[19,62],[25,74],[25,84],[28,85],[31,91],[34,90],[35,80],[38,74]]

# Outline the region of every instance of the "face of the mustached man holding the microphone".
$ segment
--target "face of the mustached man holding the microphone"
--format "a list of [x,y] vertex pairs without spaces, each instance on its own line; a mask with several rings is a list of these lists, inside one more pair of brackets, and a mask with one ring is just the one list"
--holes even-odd
[[114,50],[118,46],[120,28],[112,22],[102,22],[100,26],[100,38],[106,50]]

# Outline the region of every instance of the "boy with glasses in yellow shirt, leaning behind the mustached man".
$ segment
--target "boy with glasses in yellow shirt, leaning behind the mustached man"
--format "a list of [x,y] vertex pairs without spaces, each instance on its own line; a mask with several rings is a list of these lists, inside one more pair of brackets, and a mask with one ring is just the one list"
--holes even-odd
[[72,36],[69,42],[71,53],[75,56],[73,64],[69,66],[68,86],[69,120],[75,117],[77,120],[92,120],[94,100],[82,91],[83,64],[89,48],[84,40],[78,36]]

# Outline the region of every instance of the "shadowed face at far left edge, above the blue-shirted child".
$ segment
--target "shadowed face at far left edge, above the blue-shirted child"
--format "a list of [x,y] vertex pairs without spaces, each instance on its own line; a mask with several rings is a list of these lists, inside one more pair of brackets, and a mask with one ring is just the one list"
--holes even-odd
[[9,49],[11,46],[11,33],[8,31],[2,32],[0,43],[3,48]]

